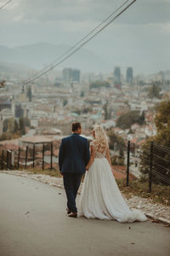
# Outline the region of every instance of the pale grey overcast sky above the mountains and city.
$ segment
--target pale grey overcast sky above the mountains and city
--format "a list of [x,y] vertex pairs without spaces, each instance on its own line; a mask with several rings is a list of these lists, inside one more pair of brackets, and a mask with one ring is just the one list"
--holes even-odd
[[[0,6],[7,0],[0,0]],[[14,0],[0,10],[0,44],[75,44],[123,0]],[[170,0],[137,0],[85,47],[111,67],[170,70]],[[54,56],[54,59],[57,56]]]

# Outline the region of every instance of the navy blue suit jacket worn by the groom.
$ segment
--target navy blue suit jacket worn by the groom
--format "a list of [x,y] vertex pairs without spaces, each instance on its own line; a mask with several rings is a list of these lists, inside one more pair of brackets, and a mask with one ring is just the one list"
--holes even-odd
[[90,158],[88,140],[77,133],[62,139],[59,148],[61,173],[84,173]]

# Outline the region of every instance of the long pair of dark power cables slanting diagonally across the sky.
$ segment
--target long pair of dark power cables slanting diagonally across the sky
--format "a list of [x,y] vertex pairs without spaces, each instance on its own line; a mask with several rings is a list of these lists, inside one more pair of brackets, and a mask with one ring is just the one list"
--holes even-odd
[[[124,4],[126,4],[129,0],[125,1],[125,3],[123,3],[118,9],[121,9],[122,6]],[[65,54],[61,55],[59,57],[59,59],[53,61],[50,65],[48,65],[48,67],[42,69],[42,71],[40,71],[39,73],[36,73],[33,77],[31,77],[31,79],[28,79],[26,80],[26,82],[23,82],[21,83],[22,85],[25,85],[25,84],[28,84],[28,83],[31,83],[33,82],[34,80],[36,79],[39,79],[40,77],[42,77],[42,75],[48,73],[49,71],[51,71],[52,69],[54,69],[54,67],[57,67],[59,66],[59,64],[61,64],[63,61],[67,60],[69,57],[71,57],[71,55],[74,55],[79,49],[82,49],[82,46],[84,46],[85,44],[88,44],[88,42],[90,40],[92,40],[95,36],[97,36],[99,34],[99,32],[102,32],[106,26],[109,26],[114,20],[116,20],[120,15],[122,15],[122,13],[124,11],[126,11],[134,2],[136,2],[136,0],[133,0],[133,2],[129,3],[124,9],[122,9],[121,12],[119,12],[116,16],[114,16],[113,18],[111,18],[110,21],[108,21],[104,26],[102,26],[97,32],[94,32],[96,29],[99,28],[99,26],[101,26],[105,20],[109,20],[109,18],[116,13],[116,11],[118,9],[116,9],[116,11],[114,11],[111,15],[109,15],[105,20],[103,20],[99,26],[96,26],[91,32],[88,33],[87,36],[85,36],[84,38],[82,38],[77,44],[75,44],[74,46],[71,47],[71,49],[67,50],[65,52]],[[94,32],[93,35],[91,35],[92,33]],[[90,36],[91,35],[91,36]],[[90,36],[90,37],[89,37]],[[89,38],[88,38],[89,37]],[[88,38],[87,40],[85,40],[83,43],[82,41],[85,39],[85,38]],[[82,43],[82,44],[80,44]],[[78,44],[80,44],[78,46]],[[56,63],[55,63],[56,62]],[[55,64],[54,64],[55,63]]]

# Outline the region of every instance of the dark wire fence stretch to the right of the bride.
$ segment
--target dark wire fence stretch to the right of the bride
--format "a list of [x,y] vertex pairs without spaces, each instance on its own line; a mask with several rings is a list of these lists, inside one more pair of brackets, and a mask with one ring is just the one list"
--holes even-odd
[[170,185],[170,148],[155,142],[150,142],[146,148],[143,148],[128,141],[125,145],[114,143],[112,149],[114,170],[119,172],[116,166],[122,158],[127,186],[131,173],[135,177],[144,177],[148,180],[149,192],[151,192],[152,183]]

